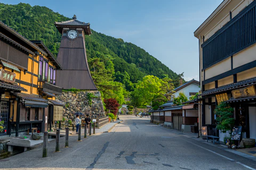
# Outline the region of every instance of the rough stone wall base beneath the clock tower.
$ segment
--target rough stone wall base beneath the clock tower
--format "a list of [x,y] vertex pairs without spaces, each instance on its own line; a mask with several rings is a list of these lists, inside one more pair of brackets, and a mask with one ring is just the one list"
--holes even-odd
[[[89,93],[94,96],[91,98],[90,103],[88,95]],[[65,121],[61,121],[62,128],[73,127],[75,124],[76,112],[81,112],[84,114],[89,114],[91,118],[98,118],[105,116],[105,111],[101,101],[101,96],[99,91],[77,91],[77,92],[62,92],[61,96],[56,97],[57,100],[62,101],[65,104],[63,108],[63,118]],[[80,117],[81,118],[81,117]]]

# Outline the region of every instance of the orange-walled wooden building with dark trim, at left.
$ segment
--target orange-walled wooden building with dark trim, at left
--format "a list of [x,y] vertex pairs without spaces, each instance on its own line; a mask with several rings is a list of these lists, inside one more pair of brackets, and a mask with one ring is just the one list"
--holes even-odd
[[[0,22],[0,135],[47,130],[62,88],[55,86],[61,66],[41,41],[34,43]],[[55,112],[57,113],[57,112]],[[62,118],[61,118],[62,119]]]

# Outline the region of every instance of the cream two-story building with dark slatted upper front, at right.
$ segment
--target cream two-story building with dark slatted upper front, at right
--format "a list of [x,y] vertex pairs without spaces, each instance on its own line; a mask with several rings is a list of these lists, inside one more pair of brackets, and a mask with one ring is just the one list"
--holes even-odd
[[199,41],[199,127],[214,131],[214,109],[234,107],[235,125],[256,139],[256,1],[224,0],[194,32]]

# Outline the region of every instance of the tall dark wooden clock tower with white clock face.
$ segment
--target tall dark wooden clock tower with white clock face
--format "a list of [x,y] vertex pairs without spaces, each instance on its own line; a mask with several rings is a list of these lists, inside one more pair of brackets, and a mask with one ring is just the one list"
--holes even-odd
[[85,35],[91,35],[90,23],[72,20],[55,22],[62,34],[57,61],[62,70],[56,72],[56,85],[63,89],[97,90],[86,58]]

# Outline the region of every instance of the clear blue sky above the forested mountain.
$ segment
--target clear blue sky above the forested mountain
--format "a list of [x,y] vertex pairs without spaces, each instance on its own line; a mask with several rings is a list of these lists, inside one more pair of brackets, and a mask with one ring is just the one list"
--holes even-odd
[[185,80],[199,80],[198,40],[194,31],[223,0],[1,0],[51,8],[90,22],[91,28],[131,42],[156,57]]

